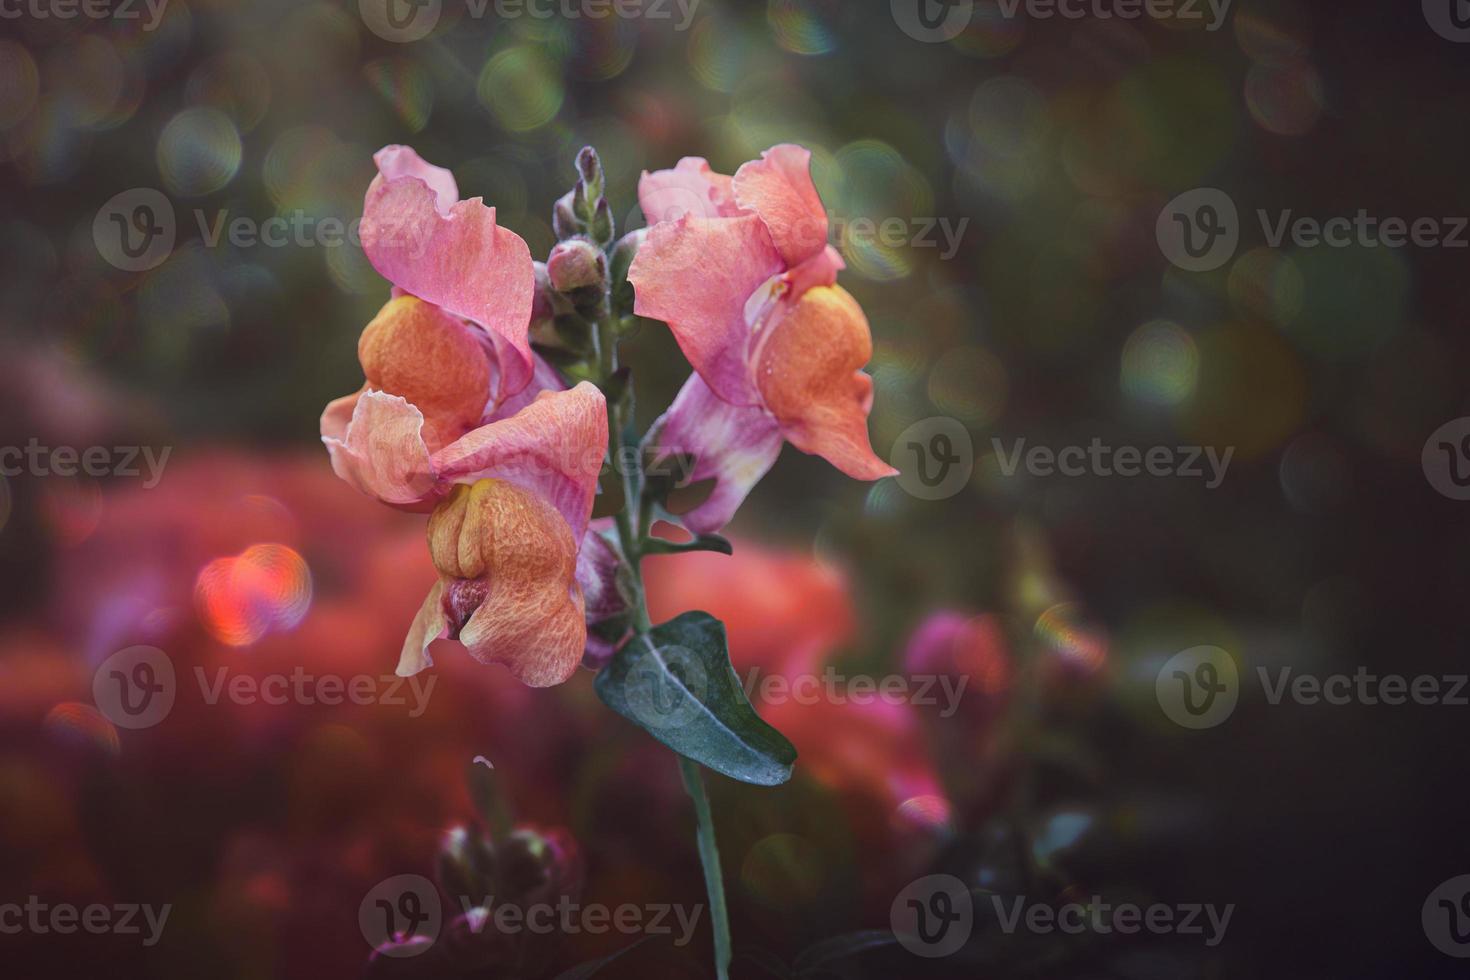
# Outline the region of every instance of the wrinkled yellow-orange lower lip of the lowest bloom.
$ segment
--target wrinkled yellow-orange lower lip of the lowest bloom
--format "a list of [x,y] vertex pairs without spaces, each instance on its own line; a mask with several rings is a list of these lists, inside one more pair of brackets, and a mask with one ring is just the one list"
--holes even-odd
[[513,483],[481,480],[456,494],[472,498],[462,511],[460,567],[488,583],[460,642],[481,663],[506,664],[525,685],[562,683],[587,645],[579,538],[547,501]]

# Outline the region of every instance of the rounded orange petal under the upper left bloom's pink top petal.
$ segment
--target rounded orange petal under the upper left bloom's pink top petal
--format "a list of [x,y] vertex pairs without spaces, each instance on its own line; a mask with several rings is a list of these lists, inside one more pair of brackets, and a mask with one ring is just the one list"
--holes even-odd
[[476,329],[417,297],[388,300],[363,329],[357,359],[368,386],[403,395],[423,413],[429,451],[479,423],[490,400],[490,357]]

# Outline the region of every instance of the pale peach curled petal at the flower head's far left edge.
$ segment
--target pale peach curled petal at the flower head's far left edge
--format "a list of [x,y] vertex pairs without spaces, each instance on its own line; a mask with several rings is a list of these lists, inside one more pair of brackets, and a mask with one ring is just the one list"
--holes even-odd
[[363,494],[404,508],[426,508],[435,495],[435,469],[422,429],[423,413],[381,391],[338,398],[322,413],[322,442],[332,470]]

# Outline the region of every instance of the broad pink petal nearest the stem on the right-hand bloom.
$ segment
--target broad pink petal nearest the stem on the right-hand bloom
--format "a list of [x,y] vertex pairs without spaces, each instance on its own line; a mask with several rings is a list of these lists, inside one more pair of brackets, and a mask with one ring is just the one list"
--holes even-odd
[[648,229],[628,278],[634,310],[663,320],[720,398],[760,403],[750,381],[745,301],[782,270],[766,226],[744,217],[684,217]]

